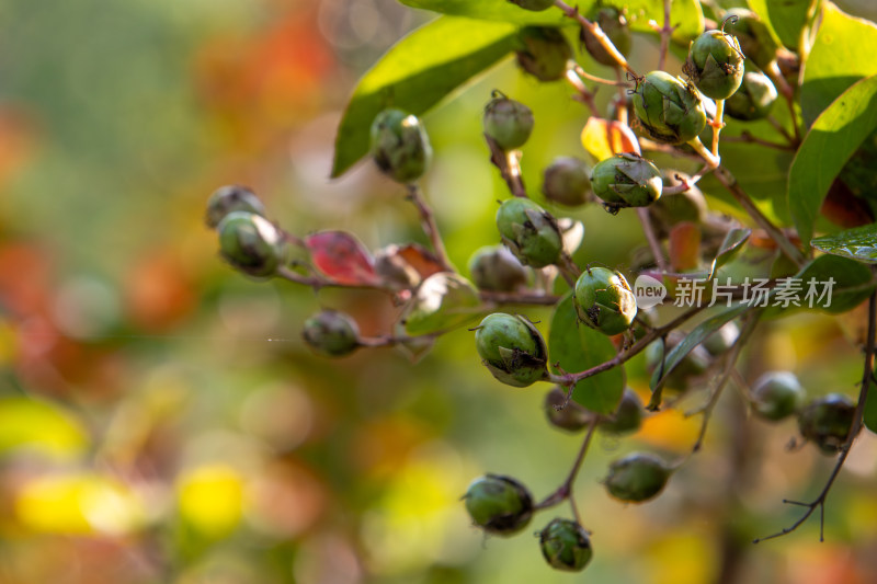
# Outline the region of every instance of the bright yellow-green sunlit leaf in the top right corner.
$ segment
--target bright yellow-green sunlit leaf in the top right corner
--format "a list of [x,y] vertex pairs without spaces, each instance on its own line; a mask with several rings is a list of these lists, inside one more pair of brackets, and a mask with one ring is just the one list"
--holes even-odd
[[806,126],[846,88],[863,77],[877,75],[875,54],[877,25],[825,2],[819,32],[804,67],[800,104]]

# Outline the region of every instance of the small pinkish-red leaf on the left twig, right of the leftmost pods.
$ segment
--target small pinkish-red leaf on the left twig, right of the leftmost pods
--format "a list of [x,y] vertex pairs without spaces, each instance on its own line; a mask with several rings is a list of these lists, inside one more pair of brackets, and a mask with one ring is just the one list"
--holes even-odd
[[305,238],[314,265],[339,284],[372,286],[380,279],[368,250],[346,231],[320,231]]

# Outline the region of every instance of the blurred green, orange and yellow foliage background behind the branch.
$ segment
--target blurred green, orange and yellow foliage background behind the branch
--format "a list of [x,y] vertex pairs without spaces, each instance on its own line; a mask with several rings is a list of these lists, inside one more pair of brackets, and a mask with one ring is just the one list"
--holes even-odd
[[[392,0],[0,2],[0,583],[694,584],[722,565],[736,570],[724,582],[876,581],[877,440],[856,445],[825,543],[811,520],[752,546],[797,517],[781,500],[818,493],[831,461],[787,451],[794,422],[748,420],[731,392],[704,451],[647,505],[605,495],[608,460],[682,455],[698,419],[668,411],[631,439],[595,440],[578,481],[595,549],[583,574],[551,572],[531,535],[567,507],[485,540],[459,502],[471,479],[512,474],[542,497],[578,448],[546,424],[545,388],[494,381],[465,330],[417,364],[391,350],[316,357],[299,330],[319,308],[366,334],[390,331],[399,308],[254,282],[218,257],[204,205],[228,183],[295,233],[425,243],[403,190],[371,164],[327,176],[356,78],[428,18]],[[425,116],[424,186],[462,268],[497,242],[508,196],[480,136],[493,88],[536,114],[528,184],[582,153],[581,104],[511,59]],[[582,261],[626,267],[643,244],[631,216],[576,216]],[[748,376],[793,368],[813,394],[856,391],[839,322],[768,324],[760,343]],[[628,380],[646,391],[639,360]]]

